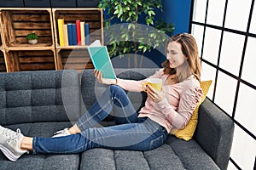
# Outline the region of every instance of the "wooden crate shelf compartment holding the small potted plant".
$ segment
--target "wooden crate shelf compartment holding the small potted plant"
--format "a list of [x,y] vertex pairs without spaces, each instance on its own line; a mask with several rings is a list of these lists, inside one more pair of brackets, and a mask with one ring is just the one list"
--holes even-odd
[[7,47],[31,47],[26,35],[38,34],[38,47],[54,47],[52,15],[50,8],[1,8],[3,39]]

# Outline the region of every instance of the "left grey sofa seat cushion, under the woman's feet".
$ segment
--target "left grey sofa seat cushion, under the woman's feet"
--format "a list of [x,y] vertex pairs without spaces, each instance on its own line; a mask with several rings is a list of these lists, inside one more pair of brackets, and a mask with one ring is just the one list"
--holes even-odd
[[[58,130],[70,127],[71,122],[35,122],[9,125],[13,130],[20,128],[21,133],[26,136],[50,137]],[[79,154],[72,155],[46,155],[46,154],[24,154],[17,161],[9,161],[0,152],[0,169],[79,169]]]

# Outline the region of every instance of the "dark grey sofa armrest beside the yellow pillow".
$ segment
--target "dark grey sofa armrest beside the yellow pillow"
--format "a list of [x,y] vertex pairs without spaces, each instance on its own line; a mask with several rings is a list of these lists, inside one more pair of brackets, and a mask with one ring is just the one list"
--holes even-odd
[[233,140],[234,122],[211,100],[205,99],[198,113],[194,139],[220,169],[228,167]]

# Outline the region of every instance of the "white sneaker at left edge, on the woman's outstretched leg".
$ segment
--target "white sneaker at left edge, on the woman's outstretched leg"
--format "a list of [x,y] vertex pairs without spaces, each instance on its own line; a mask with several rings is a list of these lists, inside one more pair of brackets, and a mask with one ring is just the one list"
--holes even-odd
[[16,161],[27,152],[27,150],[20,150],[20,142],[23,137],[19,128],[15,132],[9,128],[0,126],[0,150],[3,151],[3,154],[10,161]]

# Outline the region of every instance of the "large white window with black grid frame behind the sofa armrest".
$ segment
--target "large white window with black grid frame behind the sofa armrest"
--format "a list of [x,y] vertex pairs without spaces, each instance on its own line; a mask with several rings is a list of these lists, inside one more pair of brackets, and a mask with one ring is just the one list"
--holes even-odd
[[[255,0],[194,0],[190,25],[202,60],[207,97],[235,122],[229,170],[256,164]],[[215,89],[215,91],[213,91]]]

